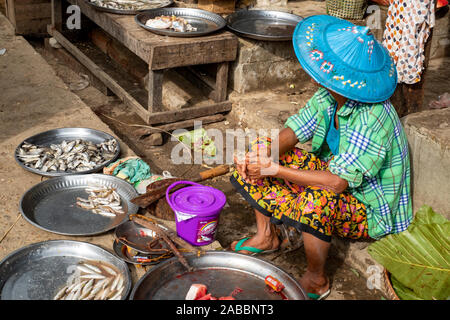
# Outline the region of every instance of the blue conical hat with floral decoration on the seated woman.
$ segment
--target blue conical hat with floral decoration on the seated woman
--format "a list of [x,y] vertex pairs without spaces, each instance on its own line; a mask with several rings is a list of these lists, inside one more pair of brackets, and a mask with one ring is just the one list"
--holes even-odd
[[368,27],[328,15],[308,17],[293,35],[297,59],[324,87],[366,103],[389,99],[397,71],[388,51]]

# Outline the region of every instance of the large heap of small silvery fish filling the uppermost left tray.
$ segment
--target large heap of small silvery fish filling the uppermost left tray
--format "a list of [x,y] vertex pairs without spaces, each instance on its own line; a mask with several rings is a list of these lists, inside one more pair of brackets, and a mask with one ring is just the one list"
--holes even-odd
[[117,150],[115,139],[98,144],[82,139],[63,140],[49,147],[24,142],[17,157],[25,166],[42,172],[81,172],[113,159]]

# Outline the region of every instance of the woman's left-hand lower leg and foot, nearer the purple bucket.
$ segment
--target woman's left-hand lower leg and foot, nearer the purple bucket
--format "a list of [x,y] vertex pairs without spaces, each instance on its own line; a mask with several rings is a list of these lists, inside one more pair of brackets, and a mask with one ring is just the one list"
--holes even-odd
[[[255,209],[256,218],[256,234],[250,239],[246,240],[242,246],[249,246],[262,250],[277,249],[280,246],[280,239],[278,239],[275,225],[270,222],[270,217],[263,215]],[[231,249],[234,251],[238,241],[231,244]],[[240,253],[251,253],[246,250],[239,251]]]

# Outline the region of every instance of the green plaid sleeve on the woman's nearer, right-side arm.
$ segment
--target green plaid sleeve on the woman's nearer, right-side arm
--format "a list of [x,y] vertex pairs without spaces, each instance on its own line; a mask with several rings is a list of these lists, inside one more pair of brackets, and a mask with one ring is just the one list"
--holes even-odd
[[[340,150],[329,164],[329,170],[348,181],[350,188],[356,188],[363,177],[375,177],[386,158],[388,137],[385,131],[374,131],[368,124],[359,124],[347,131],[347,150]],[[341,137],[342,139],[343,137]]]

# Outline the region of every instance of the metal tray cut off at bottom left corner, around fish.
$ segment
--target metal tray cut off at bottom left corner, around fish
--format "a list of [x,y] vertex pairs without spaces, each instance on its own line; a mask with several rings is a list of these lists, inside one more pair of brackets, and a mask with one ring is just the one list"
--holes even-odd
[[125,279],[126,299],[131,290],[127,264],[99,246],[72,240],[33,243],[5,257],[0,262],[0,299],[51,300],[84,260],[115,266]]

